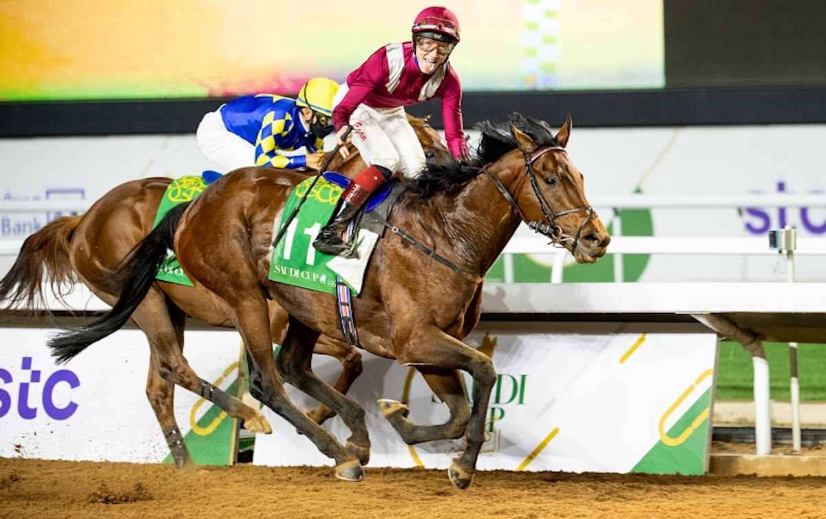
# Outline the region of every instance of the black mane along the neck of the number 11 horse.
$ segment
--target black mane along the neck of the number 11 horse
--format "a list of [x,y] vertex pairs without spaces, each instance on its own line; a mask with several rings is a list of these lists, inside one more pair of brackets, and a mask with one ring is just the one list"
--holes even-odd
[[482,133],[476,150],[469,159],[449,160],[441,164],[427,164],[420,175],[410,181],[410,188],[420,193],[421,198],[430,198],[436,193],[452,193],[468,180],[476,177],[483,166],[499,160],[518,145],[510,133],[510,126],[525,133],[539,145],[557,145],[548,123],[518,112],[510,115],[510,121],[482,121],[475,127]]

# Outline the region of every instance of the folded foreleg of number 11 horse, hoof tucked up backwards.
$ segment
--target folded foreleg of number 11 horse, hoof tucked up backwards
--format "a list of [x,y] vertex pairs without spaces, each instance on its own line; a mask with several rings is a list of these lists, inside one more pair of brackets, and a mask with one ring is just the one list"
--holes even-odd
[[405,404],[382,399],[378,401],[378,407],[384,417],[408,445],[433,440],[455,440],[464,436],[470,420],[470,406],[461,375],[455,369],[439,370],[430,366],[416,366],[416,369],[425,378],[430,389],[448,407],[448,421],[435,426],[416,424],[407,419],[410,410]]

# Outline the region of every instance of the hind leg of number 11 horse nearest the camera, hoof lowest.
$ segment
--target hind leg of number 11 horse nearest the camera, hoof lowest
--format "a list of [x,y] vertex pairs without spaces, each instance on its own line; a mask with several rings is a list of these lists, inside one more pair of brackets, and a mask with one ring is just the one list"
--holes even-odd
[[[237,286],[243,286],[243,283],[237,283],[236,288]],[[287,397],[273,359],[273,340],[269,328],[267,303],[263,299],[259,301],[256,298],[244,298],[243,295],[235,303],[229,300],[227,302],[233,309],[235,328],[244,339],[250,360],[249,393],[301,431],[301,434],[311,440],[322,454],[335,459],[337,478],[347,481],[364,479],[364,469],[358,458],[339,444],[335,436],[301,412]],[[293,326],[289,326],[282,352],[290,349],[294,334]],[[313,342],[316,337],[313,338]]]

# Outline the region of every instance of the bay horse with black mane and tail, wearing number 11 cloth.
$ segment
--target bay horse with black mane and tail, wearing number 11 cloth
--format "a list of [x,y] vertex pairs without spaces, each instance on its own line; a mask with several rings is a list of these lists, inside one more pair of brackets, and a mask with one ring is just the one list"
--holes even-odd
[[[477,324],[482,276],[521,221],[566,247],[581,263],[605,255],[610,242],[586,201],[582,174],[565,151],[570,117],[556,136],[547,123],[519,114],[509,125],[483,123],[479,128],[477,158],[430,166],[397,199],[384,222],[392,232],[376,245],[353,303],[363,348],[415,366],[449,407],[447,422],[422,426],[406,418],[401,403],[380,401],[407,443],[464,438],[465,450],[448,471],[458,488],[468,488],[476,471],[496,382],[491,359],[460,340]],[[334,459],[337,477],[358,481],[370,447],[364,411],[310,369],[320,333],[343,337],[335,297],[268,279],[273,223],[292,188],[304,179],[288,170],[237,169],[211,184],[208,196],[205,191],[188,207],[169,212],[126,265],[121,299],[87,331],[96,336],[125,322],[122,316],[144,298],[173,246],[190,279],[229,307],[250,359],[250,393]],[[268,299],[290,315],[278,359],[270,346]],[[50,342],[64,357],[87,345],[76,334],[65,339]],[[472,376],[476,388],[469,408],[460,369]],[[282,376],[343,419],[352,433],[346,445],[289,401]]]

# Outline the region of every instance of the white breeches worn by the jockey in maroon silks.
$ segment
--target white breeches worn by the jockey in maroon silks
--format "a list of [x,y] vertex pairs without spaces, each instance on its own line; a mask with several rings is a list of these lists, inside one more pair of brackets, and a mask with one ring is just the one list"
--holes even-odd
[[[346,85],[339,88],[337,98],[344,97],[342,90],[346,93]],[[425,152],[404,107],[371,108],[360,104],[349,122],[353,126],[353,145],[364,162],[397,171],[406,179],[419,176],[425,167]]]

